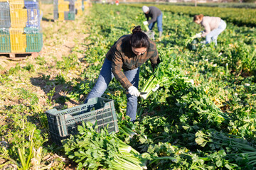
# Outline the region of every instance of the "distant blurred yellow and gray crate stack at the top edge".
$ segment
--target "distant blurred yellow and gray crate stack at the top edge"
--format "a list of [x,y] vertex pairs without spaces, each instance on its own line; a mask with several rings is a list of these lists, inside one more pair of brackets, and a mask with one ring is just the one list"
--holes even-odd
[[53,6],[54,20],[72,21],[75,20],[75,15],[82,15],[88,4],[84,0],[53,0]]

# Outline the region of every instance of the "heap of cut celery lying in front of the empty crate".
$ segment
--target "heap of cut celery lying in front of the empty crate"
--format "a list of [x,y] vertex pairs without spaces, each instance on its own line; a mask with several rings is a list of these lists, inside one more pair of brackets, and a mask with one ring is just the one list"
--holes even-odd
[[78,169],[146,169],[146,159],[139,152],[106,129],[96,132],[95,125],[83,123],[78,135],[63,141],[65,154],[78,163]]

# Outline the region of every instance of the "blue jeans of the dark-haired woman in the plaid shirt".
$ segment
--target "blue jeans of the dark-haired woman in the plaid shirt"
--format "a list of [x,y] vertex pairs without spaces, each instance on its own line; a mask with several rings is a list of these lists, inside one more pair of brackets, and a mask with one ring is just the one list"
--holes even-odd
[[[89,98],[101,97],[102,94],[104,94],[105,90],[107,89],[107,86],[110,84],[110,81],[114,78],[111,64],[112,61],[105,59],[97,82],[88,94],[85,103],[87,103]],[[124,75],[132,83],[133,86],[138,88],[139,68],[124,71]],[[131,121],[136,119],[137,105],[137,97],[127,94],[127,115],[131,118]]]

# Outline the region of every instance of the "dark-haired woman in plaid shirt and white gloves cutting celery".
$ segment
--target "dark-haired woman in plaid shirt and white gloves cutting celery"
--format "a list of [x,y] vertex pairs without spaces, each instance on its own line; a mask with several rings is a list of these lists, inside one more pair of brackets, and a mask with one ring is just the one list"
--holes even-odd
[[139,67],[147,60],[150,60],[153,69],[159,64],[156,43],[142,32],[140,26],[134,27],[132,35],[123,35],[107,52],[97,82],[85,103],[90,98],[101,97],[115,77],[127,90],[127,115],[134,122],[137,113],[137,97],[140,96]]

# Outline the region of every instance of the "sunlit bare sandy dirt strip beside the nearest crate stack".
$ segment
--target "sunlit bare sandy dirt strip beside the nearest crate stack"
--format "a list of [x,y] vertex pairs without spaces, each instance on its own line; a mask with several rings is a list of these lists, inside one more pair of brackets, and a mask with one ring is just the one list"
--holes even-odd
[[[85,10],[82,16],[75,16],[75,21],[54,22],[53,4],[41,4],[41,11],[43,11],[43,20],[41,22],[43,49],[41,50],[41,55],[36,58],[28,56],[25,60],[20,61],[13,61],[9,60],[7,57],[0,56],[0,74],[6,74],[6,72],[17,65],[23,68],[31,64],[35,70],[33,73],[28,75],[24,74],[23,76],[11,75],[11,79],[13,79],[14,83],[14,87],[12,88],[33,91],[33,93],[39,96],[38,104],[40,106],[46,106],[47,94],[54,86],[54,82],[52,81],[52,84],[49,85],[49,81],[53,80],[57,75],[62,74],[61,69],[56,69],[55,67],[57,62],[62,61],[63,56],[77,55],[78,59],[82,59],[83,57],[81,52],[75,52],[73,49],[76,48],[80,51],[85,50],[82,44],[85,43],[87,35],[85,35],[84,30],[80,29],[80,26],[89,12]],[[85,64],[80,64],[80,69],[85,69]],[[70,78],[78,77],[78,73],[81,70],[71,70],[68,72],[67,76]],[[46,81],[46,79],[41,79],[42,77],[50,78]],[[17,83],[19,80],[22,82]],[[0,96],[4,99],[0,100],[0,108],[1,106],[13,106],[22,102],[21,98],[16,97],[14,94],[11,95],[11,89],[6,89],[6,85],[1,84],[1,82],[0,89]],[[64,89],[67,89],[65,84],[56,85],[53,99],[65,96],[66,92]],[[68,101],[65,103],[68,107],[78,104],[78,101]],[[61,107],[62,106],[60,106],[60,108]]]

